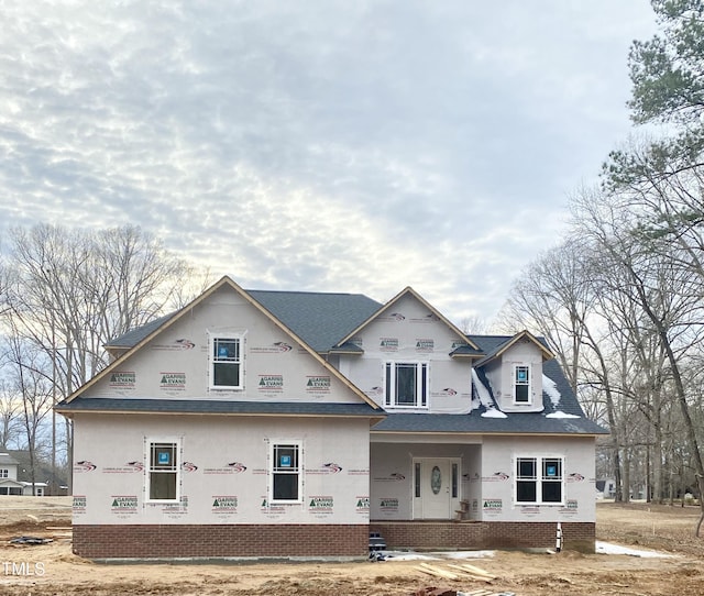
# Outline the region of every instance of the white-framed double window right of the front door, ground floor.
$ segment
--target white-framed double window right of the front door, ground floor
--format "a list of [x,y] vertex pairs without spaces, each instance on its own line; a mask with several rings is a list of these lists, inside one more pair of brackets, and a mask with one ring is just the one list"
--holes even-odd
[[562,457],[517,457],[516,503],[560,505],[564,501]]

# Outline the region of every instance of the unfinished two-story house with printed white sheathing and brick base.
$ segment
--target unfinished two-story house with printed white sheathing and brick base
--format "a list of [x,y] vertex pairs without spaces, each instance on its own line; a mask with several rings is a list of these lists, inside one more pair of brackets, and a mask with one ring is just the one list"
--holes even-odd
[[74,420],[89,558],[593,550],[595,438],[527,331],[464,335],[411,288],[245,291],[224,277],[116,339]]

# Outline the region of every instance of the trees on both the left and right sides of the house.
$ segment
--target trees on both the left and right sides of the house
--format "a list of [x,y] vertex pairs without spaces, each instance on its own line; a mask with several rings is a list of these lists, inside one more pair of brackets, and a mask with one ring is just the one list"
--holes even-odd
[[[609,430],[597,470],[616,498],[673,501],[704,488],[704,7],[652,7],[660,33],[631,46],[629,107],[663,132],[614,151],[602,184],[574,194],[570,232],[514,283],[503,318],[546,336]],[[136,227],[10,230],[0,449],[70,470],[70,421],[52,406],[108,364],[108,340],[185,305],[207,278]]]

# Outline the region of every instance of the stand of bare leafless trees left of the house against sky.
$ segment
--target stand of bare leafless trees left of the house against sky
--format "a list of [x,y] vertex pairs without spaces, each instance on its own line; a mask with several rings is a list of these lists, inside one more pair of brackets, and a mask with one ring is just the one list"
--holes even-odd
[[53,406],[108,365],[107,341],[184,306],[207,276],[139,227],[9,231],[0,253],[0,449],[29,451],[32,483],[45,479],[35,477],[40,460],[51,462],[50,485],[57,470],[70,471],[72,423]]

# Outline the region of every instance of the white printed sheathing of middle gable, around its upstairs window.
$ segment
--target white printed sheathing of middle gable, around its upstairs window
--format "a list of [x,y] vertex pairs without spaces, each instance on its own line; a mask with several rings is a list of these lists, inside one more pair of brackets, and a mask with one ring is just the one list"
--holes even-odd
[[[364,354],[341,356],[340,369],[384,406],[384,364],[426,362],[429,387],[428,407],[424,411],[466,413],[472,400],[471,365],[466,360],[449,356],[458,340],[444,322],[407,295],[352,338]],[[394,411],[393,407],[387,409]]]

